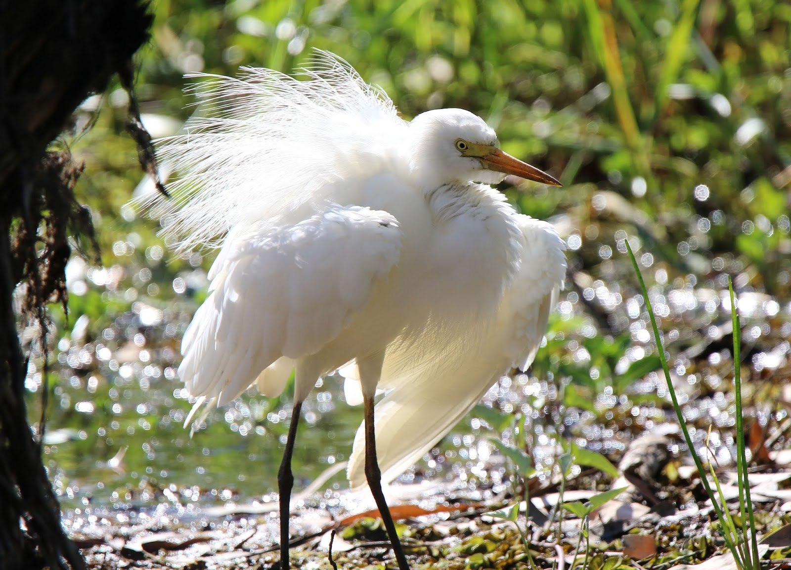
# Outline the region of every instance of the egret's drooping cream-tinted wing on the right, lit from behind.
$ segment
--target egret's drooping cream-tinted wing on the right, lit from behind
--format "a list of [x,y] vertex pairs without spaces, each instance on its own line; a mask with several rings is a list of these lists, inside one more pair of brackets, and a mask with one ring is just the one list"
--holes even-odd
[[[381,384],[392,390],[375,410],[383,481],[392,481],[430,450],[503,374],[512,367],[524,370],[536,356],[566,275],[566,245],[547,222],[517,215],[517,225],[524,238],[520,270],[505,293],[496,323],[476,340],[477,346],[464,342],[461,348],[446,347],[441,354],[426,355],[428,364],[411,368],[393,366],[405,360],[398,346],[388,349]],[[365,485],[364,469],[361,426],[347,469],[352,488]]]

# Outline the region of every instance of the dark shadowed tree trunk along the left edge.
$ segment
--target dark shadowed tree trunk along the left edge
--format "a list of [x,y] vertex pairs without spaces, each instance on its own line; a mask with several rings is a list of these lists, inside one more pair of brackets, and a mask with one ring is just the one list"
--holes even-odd
[[24,317],[65,302],[66,231],[90,230],[71,189],[81,168],[47,145],[81,101],[119,73],[147,39],[143,0],[0,0],[0,568],[84,568],[27,422],[27,363],[13,291]]

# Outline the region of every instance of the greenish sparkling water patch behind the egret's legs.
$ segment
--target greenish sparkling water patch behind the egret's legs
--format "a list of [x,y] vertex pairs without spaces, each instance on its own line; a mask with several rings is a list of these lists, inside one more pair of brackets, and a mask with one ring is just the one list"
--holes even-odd
[[[134,368],[136,373],[118,375],[112,384],[102,378],[93,408],[78,400],[85,397],[80,394],[85,390],[82,382],[57,390],[59,409],[51,415],[50,428],[59,422],[69,427],[49,432],[45,443],[66,437],[45,444],[44,454],[65,506],[81,496],[99,504],[144,504],[147,487],[166,487],[171,481],[179,488],[197,485],[209,494],[194,492],[191,500],[211,499],[215,488],[244,497],[274,490],[288,403],[263,405],[260,397],[244,397],[211,412],[208,427],[190,438],[182,424],[191,405],[182,399],[177,382],[146,376],[148,367]],[[93,378],[104,372],[99,367]],[[342,390],[336,392],[314,392],[305,402],[305,429],[294,454],[297,485],[349,453],[361,412],[327,413],[334,407],[328,406],[330,398],[342,397]],[[123,447],[123,462],[113,469],[108,460]]]

